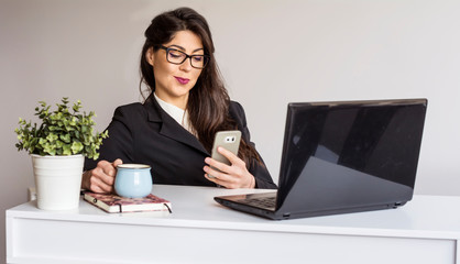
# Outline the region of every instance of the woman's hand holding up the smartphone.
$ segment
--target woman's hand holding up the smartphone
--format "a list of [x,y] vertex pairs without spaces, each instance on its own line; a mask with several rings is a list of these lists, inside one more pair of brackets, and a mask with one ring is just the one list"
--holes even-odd
[[[205,177],[208,180],[229,189],[255,188],[254,176],[248,172],[247,165],[241,158],[220,146],[217,151],[227,157],[231,165],[220,163],[210,157],[205,158],[205,163],[209,165],[204,167],[204,170],[206,172]],[[212,169],[211,167],[215,167],[220,172]]]

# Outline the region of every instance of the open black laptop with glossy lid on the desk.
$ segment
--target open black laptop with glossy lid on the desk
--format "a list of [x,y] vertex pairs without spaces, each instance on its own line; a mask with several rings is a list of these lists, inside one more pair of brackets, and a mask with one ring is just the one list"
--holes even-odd
[[277,191],[219,196],[269,219],[398,208],[414,194],[427,99],[288,103]]

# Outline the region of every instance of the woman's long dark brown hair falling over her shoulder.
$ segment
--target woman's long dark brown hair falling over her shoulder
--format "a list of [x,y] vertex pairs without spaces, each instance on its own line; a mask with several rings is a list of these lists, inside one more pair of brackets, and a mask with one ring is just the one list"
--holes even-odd
[[[216,132],[237,129],[237,122],[229,116],[230,97],[223,85],[213,53],[215,46],[206,19],[189,8],[179,8],[164,12],[152,20],[145,31],[145,44],[141,54],[141,82],[155,91],[153,67],[146,59],[149,48],[156,51],[160,45],[168,43],[178,31],[191,31],[201,38],[205,54],[210,56],[209,63],[202,69],[195,87],[190,90],[187,111],[196,135],[206,150],[212,147]],[[248,165],[251,161],[261,161],[255,148],[241,141],[239,156]]]

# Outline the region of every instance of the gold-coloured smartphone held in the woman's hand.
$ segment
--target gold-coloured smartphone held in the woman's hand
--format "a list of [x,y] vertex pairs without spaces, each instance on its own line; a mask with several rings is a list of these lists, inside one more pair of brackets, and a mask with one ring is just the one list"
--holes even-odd
[[[222,154],[217,152],[217,147],[221,146],[238,156],[238,148],[240,147],[240,141],[241,141],[241,131],[239,130],[217,132],[216,138],[213,140],[213,144],[212,144],[211,157],[218,162],[224,163],[227,165],[231,165],[230,161],[227,157],[224,157]],[[215,167],[212,168],[216,170],[219,170]],[[212,177],[211,175],[209,176]]]

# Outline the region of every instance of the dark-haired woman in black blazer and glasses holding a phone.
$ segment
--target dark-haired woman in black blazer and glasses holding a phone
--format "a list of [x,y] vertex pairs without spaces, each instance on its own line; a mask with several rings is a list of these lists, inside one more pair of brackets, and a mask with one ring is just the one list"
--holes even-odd
[[[176,9],[153,19],[145,37],[140,87],[150,95],[117,108],[99,161],[85,162],[83,188],[111,193],[121,163],[151,165],[155,184],[276,188],[250,142],[243,108],[223,87],[206,20]],[[218,150],[230,166],[209,157],[216,132],[226,130],[242,132],[238,156]]]

